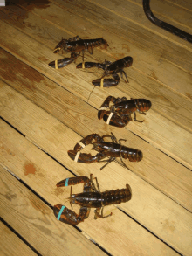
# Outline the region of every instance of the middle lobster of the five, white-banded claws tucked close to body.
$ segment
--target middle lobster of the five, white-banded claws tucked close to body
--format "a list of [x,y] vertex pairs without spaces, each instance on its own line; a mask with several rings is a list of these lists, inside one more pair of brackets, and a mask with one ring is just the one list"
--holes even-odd
[[[109,104],[113,102],[113,105]],[[131,99],[126,97],[115,98],[108,96],[98,111],[98,119],[102,119],[106,124],[115,127],[125,127],[129,121],[132,120],[131,114],[134,113],[134,121],[143,122],[136,119],[136,111],[140,114],[146,114],[151,108],[151,101],[146,99]]]

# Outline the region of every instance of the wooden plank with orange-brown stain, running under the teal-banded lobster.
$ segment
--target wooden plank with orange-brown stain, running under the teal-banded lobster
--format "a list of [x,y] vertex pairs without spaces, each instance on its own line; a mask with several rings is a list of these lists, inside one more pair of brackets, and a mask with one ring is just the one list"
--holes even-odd
[[[16,176],[22,178],[24,183],[30,185],[31,189],[38,192],[49,204],[64,204],[65,198],[69,196],[69,190],[56,188],[55,183],[72,176],[72,174],[54,162],[49,156],[46,156],[43,151],[35,147],[31,142],[24,139],[22,135],[19,135],[7,124],[3,123],[3,121],[0,122],[0,132],[3,133],[3,154],[0,155],[0,157],[3,157],[1,157],[0,163],[3,167],[6,167]],[[82,172],[80,170],[79,174],[80,172],[82,173],[81,175],[88,175],[87,171]],[[109,177],[104,174],[102,176],[103,178],[99,179],[101,190],[105,190],[105,186],[108,189],[118,187],[119,183],[112,183]],[[125,179],[127,177],[123,179],[123,183],[125,183]],[[106,181],[105,186],[103,186],[103,181]],[[72,193],[82,191],[82,185],[80,186],[81,190],[79,190],[79,186],[73,186]],[[137,193],[135,189],[133,191]],[[65,205],[70,207],[67,202],[65,202]],[[134,203],[134,207],[135,205],[137,204]],[[155,255],[178,255],[122,211],[117,208],[115,210],[114,206],[107,206],[106,214],[110,211],[113,211],[111,218],[99,218],[97,221],[93,220],[93,211],[91,211],[89,218],[84,223],[78,225],[83,232],[86,232],[87,235],[100,246],[103,246],[109,253],[113,255],[127,255],[127,253],[129,255],[135,255],[135,253],[138,255],[151,255],[153,253]],[[60,230],[68,227],[68,225],[61,223],[59,225]],[[165,228],[166,232],[168,232],[168,227],[169,224],[162,221],[162,228]]]

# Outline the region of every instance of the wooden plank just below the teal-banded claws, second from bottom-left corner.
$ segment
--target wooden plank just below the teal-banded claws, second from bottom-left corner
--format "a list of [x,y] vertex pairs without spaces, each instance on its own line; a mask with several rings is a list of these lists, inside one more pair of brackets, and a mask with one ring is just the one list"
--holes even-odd
[[[0,166],[0,176],[1,216],[39,253],[42,255],[106,255],[71,225],[60,225],[51,208],[2,166]],[[19,255],[23,253],[21,251]]]

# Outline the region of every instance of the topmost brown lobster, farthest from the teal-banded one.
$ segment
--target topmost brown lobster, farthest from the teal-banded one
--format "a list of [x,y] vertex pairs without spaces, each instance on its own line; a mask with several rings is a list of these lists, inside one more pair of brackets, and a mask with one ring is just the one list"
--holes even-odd
[[83,55],[83,63],[84,63],[84,52],[87,51],[90,54],[93,54],[93,48],[98,46],[108,46],[106,40],[103,38],[97,38],[97,39],[86,39],[83,40],[79,38],[79,36],[70,38],[70,39],[63,39],[58,43],[58,45],[55,47],[53,53],[58,52],[70,52],[71,58],[64,58],[64,59],[58,59],[51,61],[49,63],[49,66],[53,68],[61,68],[64,66],[67,66],[71,64],[73,61],[75,61],[79,55],[80,52],[82,52]]

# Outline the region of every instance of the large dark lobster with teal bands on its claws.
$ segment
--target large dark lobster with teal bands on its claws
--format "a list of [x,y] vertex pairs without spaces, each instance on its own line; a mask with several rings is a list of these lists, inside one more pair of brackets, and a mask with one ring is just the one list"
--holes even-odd
[[[110,204],[120,204],[126,203],[131,200],[132,191],[128,184],[126,184],[126,189],[121,190],[107,190],[105,192],[100,192],[99,183],[95,177],[97,189],[93,183],[93,175],[90,175],[90,179],[87,176],[77,176],[67,178],[59,183],[57,187],[66,187],[68,185],[75,185],[79,183],[84,183],[83,193],[71,194],[68,199],[70,204],[79,204],[80,210],[79,214],[68,209],[64,205],[57,204],[53,207],[53,212],[55,217],[58,218],[61,222],[64,222],[69,225],[78,225],[80,222],[83,222],[84,219],[88,218],[91,208],[96,208],[94,211],[94,219],[97,218],[107,218],[112,216],[112,212],[109,215],[104,216],[103,209],[104,206]],[[101,214],[99,213],[101,210]]]

